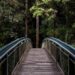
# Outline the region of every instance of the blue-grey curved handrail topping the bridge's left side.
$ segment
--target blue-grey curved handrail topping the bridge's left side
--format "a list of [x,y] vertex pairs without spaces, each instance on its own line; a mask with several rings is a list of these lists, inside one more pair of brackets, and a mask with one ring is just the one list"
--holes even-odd
[[22,43],[23,41],[27,40],[28,38],[18,38],[14,41],[12,41],[11,43],[3,46],[2,48],[0,48],[0,60],[7,55],[7,53],[9,53],[13,48],[15,48],[17,45],[19,45],[20,43]]

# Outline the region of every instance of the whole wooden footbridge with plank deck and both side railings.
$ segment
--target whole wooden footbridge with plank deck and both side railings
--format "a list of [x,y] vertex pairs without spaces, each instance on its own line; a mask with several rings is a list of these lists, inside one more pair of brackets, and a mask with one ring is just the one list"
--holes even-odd
[[0,48],[0,75],[75,75],[75,48],[54,37],[33,48],[18,38]]

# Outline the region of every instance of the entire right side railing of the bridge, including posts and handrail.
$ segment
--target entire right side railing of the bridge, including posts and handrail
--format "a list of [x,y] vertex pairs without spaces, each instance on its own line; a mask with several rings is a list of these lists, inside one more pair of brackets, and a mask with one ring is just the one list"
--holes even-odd
[[64,75],[75,75],[75,48],[54,37],[44,39],[42,48],[54,57]]

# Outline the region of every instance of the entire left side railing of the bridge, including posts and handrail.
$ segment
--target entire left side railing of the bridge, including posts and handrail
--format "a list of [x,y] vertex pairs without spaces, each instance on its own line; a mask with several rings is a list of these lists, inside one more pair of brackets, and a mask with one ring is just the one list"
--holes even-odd
[[31,40],[22,37],[0,48],[0,75],[11,75],[23,53],[31,47]]

